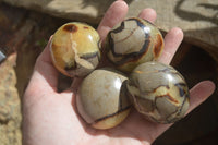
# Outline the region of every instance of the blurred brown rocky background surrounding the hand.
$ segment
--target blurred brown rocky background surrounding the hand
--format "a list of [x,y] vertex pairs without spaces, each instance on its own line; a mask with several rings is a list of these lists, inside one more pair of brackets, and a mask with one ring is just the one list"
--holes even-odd
[[[0,49],[8,57],[0,64],[0,145],[21,145],[22,97],[37,56],[49,37],[70,21],[97,27],[113,0],[0,0]],[[126,0],[129,16],[144,8],[157,11],[156,25],[165,35],[178,26],[184,40],[172,65],[190,88],[197,82],[218,78],[217,0]],[[3,51],[3,50],[2,50]],[[60,89],[68,87],[68,78]],[[154,145],[217,145],[217,90],[204,104],[164,133]]]

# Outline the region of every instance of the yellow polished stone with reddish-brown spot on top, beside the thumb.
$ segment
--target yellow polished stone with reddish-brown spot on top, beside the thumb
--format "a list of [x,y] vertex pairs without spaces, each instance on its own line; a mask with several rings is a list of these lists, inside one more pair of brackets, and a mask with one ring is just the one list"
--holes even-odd
[[68,76],[84,76],[99,63],[99,35],[78,22],[62,25],[53,35],[50,52],[55,67]]

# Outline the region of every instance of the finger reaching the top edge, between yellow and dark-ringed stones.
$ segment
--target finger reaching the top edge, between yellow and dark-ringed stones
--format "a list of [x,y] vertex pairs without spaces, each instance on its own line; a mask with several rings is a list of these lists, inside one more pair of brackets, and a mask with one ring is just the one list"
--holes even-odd
[[108,32],[119,22],[124,20],[128,13],[128,4],[124,1],[113,2],[108,11],[106,12],[104,19],[101,20],[97,31],[100,35],[101,41],[105,40]]

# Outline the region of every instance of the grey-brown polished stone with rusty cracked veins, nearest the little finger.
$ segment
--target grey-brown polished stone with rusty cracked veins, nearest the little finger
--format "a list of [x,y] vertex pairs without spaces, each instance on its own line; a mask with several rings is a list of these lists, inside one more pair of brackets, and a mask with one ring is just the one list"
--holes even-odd
[[137,111],[158,123],[180,120],[190,106],[183,76],[172,67],[159,62],[136,67],[130,76],[128,90]]

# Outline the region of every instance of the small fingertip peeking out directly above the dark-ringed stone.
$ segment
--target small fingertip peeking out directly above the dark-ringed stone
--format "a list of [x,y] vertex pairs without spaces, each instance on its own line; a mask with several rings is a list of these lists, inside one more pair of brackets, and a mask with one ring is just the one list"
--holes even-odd
[[142,10],[137,17],[141,17],[143,20],[147,20],[154,23],[157,17],[157,13],[155,10],[147,8],[147,9]]

